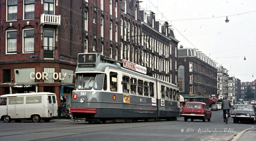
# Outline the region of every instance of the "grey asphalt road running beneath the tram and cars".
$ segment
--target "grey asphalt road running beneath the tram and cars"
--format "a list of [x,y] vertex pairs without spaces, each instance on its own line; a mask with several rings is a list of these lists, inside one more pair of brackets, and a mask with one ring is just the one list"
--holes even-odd
[[244,129],[255,127],[250,122],[233,123],[232,118],[225,124],[222,110],[212,111],[211,122],[194,120],[100,123],[54,119],[51,122],[21,123],[0,122],[0,140],[54,140],[54,141],[198,141],[231,140]]

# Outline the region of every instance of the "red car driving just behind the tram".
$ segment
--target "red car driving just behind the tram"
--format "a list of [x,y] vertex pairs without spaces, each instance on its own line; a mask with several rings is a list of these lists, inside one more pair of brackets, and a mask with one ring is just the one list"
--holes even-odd
[[207,121],[210,122],[212,112],[207,108],[205,103],[186,102],[184,108],[181,111],[181,116],[184,117],[185,122],[187,122],[188,119],[191,119],[192,122],[194,119],[200,119],[203,120],[203,122],[205,122],[207,119]]

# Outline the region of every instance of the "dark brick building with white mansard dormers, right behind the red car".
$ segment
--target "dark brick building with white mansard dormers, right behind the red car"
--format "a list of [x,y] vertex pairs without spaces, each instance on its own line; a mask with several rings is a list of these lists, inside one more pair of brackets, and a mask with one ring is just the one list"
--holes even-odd
[[185,102],[205,102],[217,95],[216,63],[201,51],[178,49],[178,83]]

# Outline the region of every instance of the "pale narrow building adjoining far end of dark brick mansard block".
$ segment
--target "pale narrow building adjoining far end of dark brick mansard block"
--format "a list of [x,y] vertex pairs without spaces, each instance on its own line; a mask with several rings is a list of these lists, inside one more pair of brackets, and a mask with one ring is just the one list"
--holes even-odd
[[218,99],[223,100],[228,97],[228,70],[222,66],[218,67],[217,73],[217,86],[218,86]]

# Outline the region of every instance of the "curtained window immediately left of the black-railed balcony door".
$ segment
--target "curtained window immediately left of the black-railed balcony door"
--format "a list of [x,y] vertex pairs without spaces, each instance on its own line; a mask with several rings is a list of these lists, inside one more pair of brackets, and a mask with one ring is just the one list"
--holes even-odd
[[34,51],[34,29],[23,30],[23,52]]

